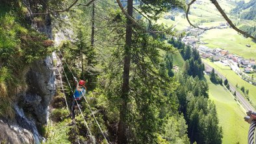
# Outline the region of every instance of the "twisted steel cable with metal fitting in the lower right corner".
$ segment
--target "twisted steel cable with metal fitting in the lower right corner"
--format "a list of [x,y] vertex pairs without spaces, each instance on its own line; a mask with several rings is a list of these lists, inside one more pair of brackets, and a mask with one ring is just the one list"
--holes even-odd
[[255,127],[256,127],[256,112],[248,111],[246,112],[246,117],[244,117],[244,120],[250,123],[250,128],[248,132],[248,144],[254,144],[255,142]]

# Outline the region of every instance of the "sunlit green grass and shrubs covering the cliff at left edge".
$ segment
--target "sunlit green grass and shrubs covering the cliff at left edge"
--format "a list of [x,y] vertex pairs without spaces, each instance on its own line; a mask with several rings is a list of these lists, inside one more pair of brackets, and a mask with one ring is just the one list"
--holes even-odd
[[36,30],[19,25],[17,19],[7,12],[0,15],[0,116],[11,119],[15,95],[27,90],[25,74],[29,65],[47,56],[45,47],[50,43]]

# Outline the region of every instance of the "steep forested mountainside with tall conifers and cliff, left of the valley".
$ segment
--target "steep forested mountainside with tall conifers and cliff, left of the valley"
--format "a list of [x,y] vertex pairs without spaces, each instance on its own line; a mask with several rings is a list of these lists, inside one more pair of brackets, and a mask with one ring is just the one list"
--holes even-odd
[[199,52],[155,23],[173,8],[187,6],[0,1],[0,143],[222,143]]

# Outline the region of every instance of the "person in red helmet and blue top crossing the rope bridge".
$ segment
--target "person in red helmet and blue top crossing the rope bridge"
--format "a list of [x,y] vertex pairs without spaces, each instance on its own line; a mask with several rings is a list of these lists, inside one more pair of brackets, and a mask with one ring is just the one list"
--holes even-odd
[[77,86],[75,88],[75,92],[72,95],[73,101],[72,101],[71,106],[70,106],[71,117],[72,117],[72,123],[70,125],[75,124],[75,109],[78,106],[80,106],[81,99],[82,99],[83,95],[86,93],[86,90],[87,90],[87,88],[85,86],[86,81],[79,80],[79,82],[78,82],[77,78],[74,78],[74,79],[75,79],[75,82],[77,83]]

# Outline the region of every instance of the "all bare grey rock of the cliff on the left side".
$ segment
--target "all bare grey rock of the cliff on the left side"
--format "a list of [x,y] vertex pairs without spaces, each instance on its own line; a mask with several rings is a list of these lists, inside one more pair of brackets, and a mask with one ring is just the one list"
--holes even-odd
[[[28,6],[30,1],[23,1]],[[27,23],[52,38],[51,17],[42,16],[44,23],[36,23],[31,14],[27,15]],[[26,74],[28,89],[18,93],[13,105],[15,119],[10,121],[4,117],[0,120],[0,143],[42,143],[44,138],[38,132],[38,126],[45,125],[48,117],[48,106],[55,94],[55,73],[53,73],[52,56],[31,64]]]

